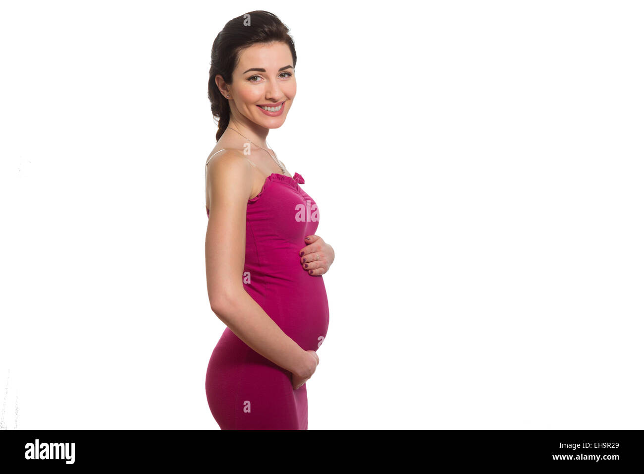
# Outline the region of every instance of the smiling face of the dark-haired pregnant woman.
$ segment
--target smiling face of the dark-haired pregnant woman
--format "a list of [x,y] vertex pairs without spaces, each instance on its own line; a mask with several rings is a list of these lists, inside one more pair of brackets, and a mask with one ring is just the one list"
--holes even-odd
[[287,44],[254,44],[242,51],[232,72],[229,93],[231,106],[240,114],[265,128],[279,128],[286,120],[295,92],[293,57]]

